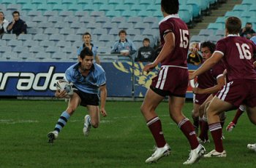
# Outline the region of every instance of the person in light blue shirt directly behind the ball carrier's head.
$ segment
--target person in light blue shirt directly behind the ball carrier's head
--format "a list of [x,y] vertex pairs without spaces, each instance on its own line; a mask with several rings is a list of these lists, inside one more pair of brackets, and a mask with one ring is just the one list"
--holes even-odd
[[78,51],[77,51],[77,54],[78,54],[78,59],[80,57],[80,52],[85,48],[85,47],[88,47],[91,52],[94,54],[94,59],[96,61],[97,64],[100,64],[100,61],[99,61],[99,56],[97,54],[97,49],[98,47],[95,47],[94,44],[91,44],[91,34],[86,32],[86,33],[83,33],[83,45],[81,47],[79,47]]

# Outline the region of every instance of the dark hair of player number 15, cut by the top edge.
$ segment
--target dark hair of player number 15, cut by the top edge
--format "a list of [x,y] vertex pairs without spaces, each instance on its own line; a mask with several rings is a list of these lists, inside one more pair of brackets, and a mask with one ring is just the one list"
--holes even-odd
[[178,13],[178,0],[162,0],[161,7],[167,14]]

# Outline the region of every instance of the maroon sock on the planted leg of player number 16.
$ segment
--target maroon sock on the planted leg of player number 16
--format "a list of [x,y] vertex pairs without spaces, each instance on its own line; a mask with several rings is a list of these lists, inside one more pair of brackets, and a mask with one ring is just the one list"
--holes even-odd
[[215,150],[217,152],[224,151],[222,145],[222,126],[219,122],[214,124],[209,124],[209,130],[211,132],[211,136],[214,139]]

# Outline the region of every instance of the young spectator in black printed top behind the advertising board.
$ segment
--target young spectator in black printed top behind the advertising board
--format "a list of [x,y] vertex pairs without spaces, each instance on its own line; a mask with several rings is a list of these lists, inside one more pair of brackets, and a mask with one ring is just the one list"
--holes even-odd
[[150,40],[143,39],[143,47],[138,50],[138,55],[135,57],[136,62],[153,62],[156,59],[154,49],[149,46]]

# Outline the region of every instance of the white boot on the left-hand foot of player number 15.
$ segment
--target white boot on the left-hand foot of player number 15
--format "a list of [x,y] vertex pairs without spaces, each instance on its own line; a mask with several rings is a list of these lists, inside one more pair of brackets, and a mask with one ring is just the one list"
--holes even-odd
[[166,143],[164,147],[156,148],[156,151],[154,151],[152,156],[146,159],[146,163],[157,162],[162,157],[168,156],[168,155],[170,155],[170,146]]

